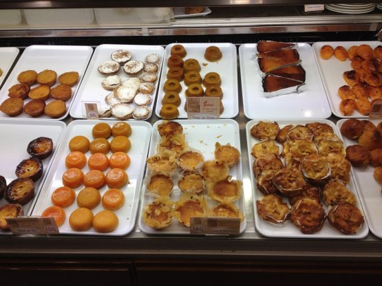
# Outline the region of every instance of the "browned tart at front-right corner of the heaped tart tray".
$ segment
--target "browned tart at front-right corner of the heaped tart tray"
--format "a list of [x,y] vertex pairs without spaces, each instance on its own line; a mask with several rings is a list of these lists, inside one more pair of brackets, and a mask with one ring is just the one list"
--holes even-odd
[[363,215],[357,206],[340,203],[328,212],[328,221],[336,230],[344,234],[355,234],[363,225]]

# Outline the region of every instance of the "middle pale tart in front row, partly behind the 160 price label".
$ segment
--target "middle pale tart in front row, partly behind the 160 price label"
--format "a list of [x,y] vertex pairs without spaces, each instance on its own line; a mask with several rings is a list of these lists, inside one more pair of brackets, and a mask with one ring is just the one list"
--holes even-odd
[[207,217],[208,215],[207,200],[204,196],[196,195],[193,192],[184,192],[172,209],[172,216],[187,228],[190,227],[191,217]]

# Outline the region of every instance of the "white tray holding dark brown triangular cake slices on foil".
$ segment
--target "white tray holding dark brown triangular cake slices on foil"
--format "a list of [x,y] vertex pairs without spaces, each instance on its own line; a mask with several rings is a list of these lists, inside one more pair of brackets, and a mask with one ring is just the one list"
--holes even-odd
[[[244,115],[250,119],[328,118],[308,43],[259,41],[239,47]],[[272,106],[272,112],[269,107]]]

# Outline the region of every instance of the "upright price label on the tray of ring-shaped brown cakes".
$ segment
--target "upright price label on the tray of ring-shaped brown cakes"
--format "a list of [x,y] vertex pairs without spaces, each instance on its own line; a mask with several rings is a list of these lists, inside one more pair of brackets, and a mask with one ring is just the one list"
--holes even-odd
[[219,119],[220,98],[218,97],[195,97],[187,98],[188,119]]

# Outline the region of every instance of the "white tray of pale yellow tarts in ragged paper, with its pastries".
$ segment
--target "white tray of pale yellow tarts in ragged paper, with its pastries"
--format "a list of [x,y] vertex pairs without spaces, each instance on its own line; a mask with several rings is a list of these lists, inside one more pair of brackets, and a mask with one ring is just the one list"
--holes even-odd
[[153,125],[139,226],[190,234],[190,217],[238,217],[246,228],[237,122],[160,120]]

